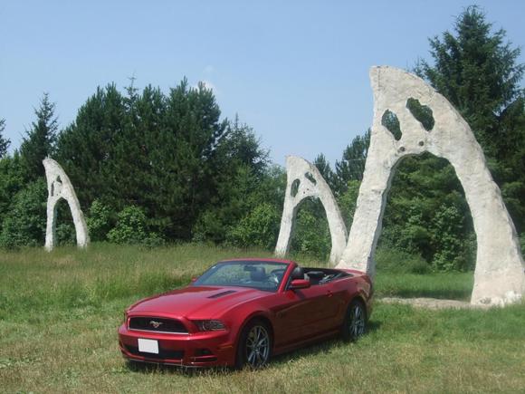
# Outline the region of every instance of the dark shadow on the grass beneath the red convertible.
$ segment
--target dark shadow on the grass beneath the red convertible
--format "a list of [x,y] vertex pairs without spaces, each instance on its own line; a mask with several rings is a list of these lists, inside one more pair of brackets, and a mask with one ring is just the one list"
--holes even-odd
[[[367,332],[375,332],[381,326],[381,322],[370,321],[367,324]],[[272,368],[272,366],[278,366],[286,364],[291,360],[295,360],[301,357],[315,357],[322,353],[329,353],[335,346],[346,343],[341,341],[337,337],[333,337],[327,340],[314,341],[309,345],[306,345],[304,348],[288,351],[283,354],[272,357],[270,364],[267,367]],[[173,373],[181,376],[191,377],[191,376],[203,376],[209,375],[210,373],[216,374],[228,374],[235,371],[233,367],[210,367],[210,368],[192,368],[192,367],[180,367],[176,365],[164,365],[164,364],[152,364],[148,362],[140,361],[127,361],[128,369],[133,372],[141,373]]]

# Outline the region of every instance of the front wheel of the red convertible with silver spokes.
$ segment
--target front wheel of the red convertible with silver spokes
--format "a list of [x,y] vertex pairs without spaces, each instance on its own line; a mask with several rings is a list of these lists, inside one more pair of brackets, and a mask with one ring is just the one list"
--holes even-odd
[[268,324],[260,320],[248,322],[239,337],[235,367],[247,366],[253,370],[264,367],[272,355],[272,342]]

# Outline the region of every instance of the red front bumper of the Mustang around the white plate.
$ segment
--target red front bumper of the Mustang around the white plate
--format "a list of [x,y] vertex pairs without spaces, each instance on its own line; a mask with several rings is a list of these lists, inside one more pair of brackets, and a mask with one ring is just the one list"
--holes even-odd
[[[138,351],[138,339],[158,341],[158,354]],[[234,341],[230,332],[190,332],[187,334],[140,332],[119,327],[119,347],[122,355],[135,361],[185,367],[215,367],[234,365]]]

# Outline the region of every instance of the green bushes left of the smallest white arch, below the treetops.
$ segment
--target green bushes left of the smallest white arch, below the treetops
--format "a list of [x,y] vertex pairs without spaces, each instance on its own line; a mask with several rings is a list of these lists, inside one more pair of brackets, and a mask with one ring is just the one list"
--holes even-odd
[[47,186],[43,178],[29,183],[14,195],[13,204],[2,223],[2,247],[43,246],[46,199]]

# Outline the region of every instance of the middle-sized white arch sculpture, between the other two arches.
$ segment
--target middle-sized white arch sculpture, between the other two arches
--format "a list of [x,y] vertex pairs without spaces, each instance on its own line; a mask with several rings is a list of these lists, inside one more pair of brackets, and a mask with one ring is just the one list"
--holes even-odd
[[295,156],[286,158],[286,176],[286,194],[275,254],[282,256],[288,253],[295,216],[301,202],[308,197],[317,197],[325,209],[329,222],[332,242],[329,261],[336,264],[347,244],[347,227],[328,184],[317,167]]

